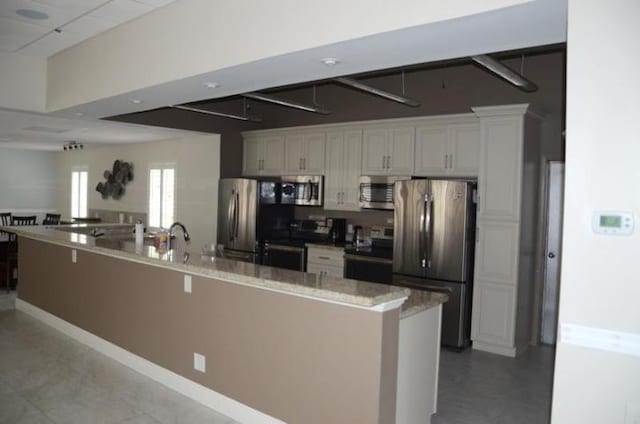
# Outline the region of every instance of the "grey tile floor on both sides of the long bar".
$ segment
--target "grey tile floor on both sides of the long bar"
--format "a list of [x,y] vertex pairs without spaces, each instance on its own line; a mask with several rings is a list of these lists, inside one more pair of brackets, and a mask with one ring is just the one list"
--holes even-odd
[[[554,350],[442,352],[432,424],[549,422]],[[15,310],[0,294],[0,424],[234,421]]]

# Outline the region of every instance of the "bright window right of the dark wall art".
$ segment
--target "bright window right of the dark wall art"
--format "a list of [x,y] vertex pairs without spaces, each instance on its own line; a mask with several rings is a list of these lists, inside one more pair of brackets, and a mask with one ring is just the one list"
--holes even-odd
[[175,215],[175,169],[156,166],[149,169],[149,226],[169,228]]

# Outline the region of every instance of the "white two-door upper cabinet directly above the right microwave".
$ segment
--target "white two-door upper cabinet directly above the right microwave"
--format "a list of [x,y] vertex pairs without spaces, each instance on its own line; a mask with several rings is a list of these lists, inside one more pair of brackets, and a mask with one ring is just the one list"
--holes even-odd
[[411,175],[414,146],[414,127],[365,129],[362,174]]

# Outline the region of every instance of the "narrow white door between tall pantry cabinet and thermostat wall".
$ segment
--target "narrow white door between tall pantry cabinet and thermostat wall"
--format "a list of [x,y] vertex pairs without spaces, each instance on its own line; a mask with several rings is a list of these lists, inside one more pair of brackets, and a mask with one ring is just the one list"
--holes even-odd
[[562,249],[562,211],[564,163],[550,162],[547,167],[547,235],[542,294],[542,343],[555,344],[558,327],[560,290],[560,253]]

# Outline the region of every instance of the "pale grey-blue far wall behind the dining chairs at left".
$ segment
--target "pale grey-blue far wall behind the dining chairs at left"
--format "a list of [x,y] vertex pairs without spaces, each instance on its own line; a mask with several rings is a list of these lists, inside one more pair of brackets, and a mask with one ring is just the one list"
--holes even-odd
[[0,147],[0,211],[54,211],[57,176],[56,153]]

